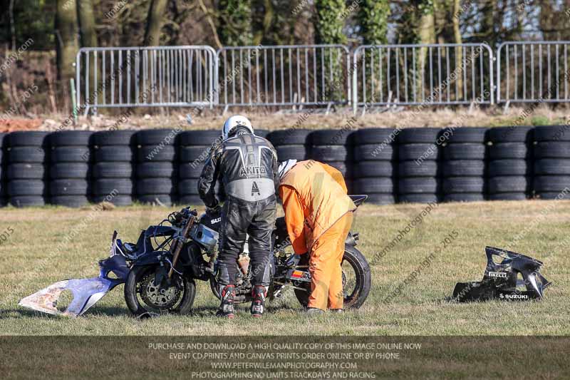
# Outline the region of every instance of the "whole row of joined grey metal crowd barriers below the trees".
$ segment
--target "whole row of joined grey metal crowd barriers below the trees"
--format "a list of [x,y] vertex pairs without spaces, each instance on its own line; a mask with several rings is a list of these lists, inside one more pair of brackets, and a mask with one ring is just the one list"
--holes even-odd
[[495,97],[496,103],[569,102],[569,45],[511,41],[496,55],[486,43],[368,45],[353,53],[343,45],[81,48],[76,101],[85,113],[141,106],[352,105],[356,111],[493,104]]

